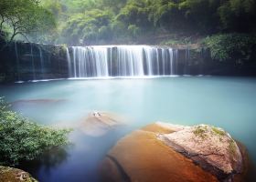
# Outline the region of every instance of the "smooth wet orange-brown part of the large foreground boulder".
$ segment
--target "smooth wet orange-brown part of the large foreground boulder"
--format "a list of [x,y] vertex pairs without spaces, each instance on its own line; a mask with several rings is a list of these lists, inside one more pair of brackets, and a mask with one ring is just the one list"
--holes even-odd
[[123,137],[103,161],[103,181],[215,182],[217,177],[157,138],[181,127],[153,124]]

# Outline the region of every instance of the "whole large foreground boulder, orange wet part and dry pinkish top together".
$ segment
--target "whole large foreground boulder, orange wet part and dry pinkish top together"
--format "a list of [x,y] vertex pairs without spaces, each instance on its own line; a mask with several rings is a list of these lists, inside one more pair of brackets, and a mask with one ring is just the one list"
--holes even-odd
[[224,130],[160,122],[124,136],[101,166],[103,181],[241,181],[242,172],[240,148]]

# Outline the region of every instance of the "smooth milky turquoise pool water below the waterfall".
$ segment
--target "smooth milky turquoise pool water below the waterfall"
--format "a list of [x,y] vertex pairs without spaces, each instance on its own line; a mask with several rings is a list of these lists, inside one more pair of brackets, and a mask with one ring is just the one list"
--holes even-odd
[[[62,151],[58,162],[39,165],[32,171],[40,181],[48,182],[97,181],[101,159],[116,140],[129,130],[155,121],[223,127],[248,147],[255,163],[255,91],[256,78],[214,76],[62,80],[0,86],[0,96],[15,102],[13,109],[40,124],[76,126],[94,110],[128,118],[126,128],[107,136],[73,132],[73,146]],[[47,102],[26,101],[37,99]]]

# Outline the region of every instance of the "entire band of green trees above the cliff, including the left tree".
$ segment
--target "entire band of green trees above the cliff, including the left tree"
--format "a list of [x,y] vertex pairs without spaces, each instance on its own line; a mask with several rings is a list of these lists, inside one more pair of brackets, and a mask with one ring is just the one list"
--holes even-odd
[[0,8],[2,34],[50,44],[251,33],[256,26],[255,0],[2,0]]

